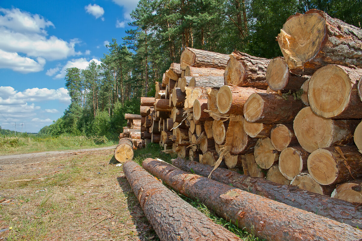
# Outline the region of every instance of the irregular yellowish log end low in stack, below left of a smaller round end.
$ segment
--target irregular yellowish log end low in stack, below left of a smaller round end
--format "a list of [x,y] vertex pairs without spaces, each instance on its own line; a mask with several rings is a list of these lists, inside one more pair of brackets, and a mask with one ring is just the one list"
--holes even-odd
[[269,137],[258,139],[254,147],[254,156],[256,163],[262,169],[269,169],[279,161],[279,151],[271,145]]

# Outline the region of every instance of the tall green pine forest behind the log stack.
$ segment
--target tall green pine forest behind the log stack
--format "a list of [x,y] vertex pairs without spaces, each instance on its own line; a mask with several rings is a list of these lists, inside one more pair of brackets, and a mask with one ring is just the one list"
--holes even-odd
[[106,46],[101,65],[67,69],[70,106],[39,134],[96,135],[115,139],[125,113],[139,113],[140,96],[154,96],[156,81],[186,47],[273,58],[275,41],[295,13],[319,9],[361,28],[360,0],[140,0],[131,30]]

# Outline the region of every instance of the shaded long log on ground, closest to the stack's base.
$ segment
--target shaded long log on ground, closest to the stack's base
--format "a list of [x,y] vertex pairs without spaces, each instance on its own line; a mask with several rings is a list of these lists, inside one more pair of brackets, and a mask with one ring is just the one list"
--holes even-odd
[[[209,176],[213,168],[198,162],[190,162],[179,158],[173,160],[172,164],[184,171],[190,172],[192,169],[195,174],[204,177]],[[264,178],[241,175],[223,168],[216,168],[211,174],[211,179],[227,185],[232,184],[236,188],[285,203],[292,207],[313,213],[317,212],[319,215],[352,225],[353,227],[361,227],[362,225],[362,210],[356,209],[355,205],[350,202],[304,191],[292,185],[281,186]]]

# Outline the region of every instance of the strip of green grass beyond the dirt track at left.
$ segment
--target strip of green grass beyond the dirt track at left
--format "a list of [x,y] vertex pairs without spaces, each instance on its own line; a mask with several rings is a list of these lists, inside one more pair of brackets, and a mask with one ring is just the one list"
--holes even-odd
[[0,136],[0,155],[22,154],[41,151],[85,149],[115,145],[105,137],[60,135],[46,136]]

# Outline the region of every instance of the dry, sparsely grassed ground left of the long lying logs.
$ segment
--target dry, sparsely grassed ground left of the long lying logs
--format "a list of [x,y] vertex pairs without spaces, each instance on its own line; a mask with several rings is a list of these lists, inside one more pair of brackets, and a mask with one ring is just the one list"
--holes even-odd
[[0,160],[0,240],[158,240],[113,149]]

